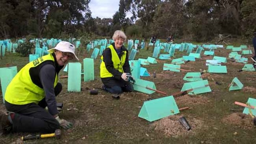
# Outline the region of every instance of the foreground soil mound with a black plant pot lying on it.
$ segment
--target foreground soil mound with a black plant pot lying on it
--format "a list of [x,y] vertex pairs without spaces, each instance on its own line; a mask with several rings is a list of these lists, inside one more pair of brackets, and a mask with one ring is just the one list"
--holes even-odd
[[195,130],[198,130],[202,127],[202,121],[196,119],[188,119],[187,122],[191,126],[191,130],[187,131],[185,127],[178,121],[182,116],[169,116],[162,118],[159,121],[154,122],[152,125],[155,127],[155,131],[160,132],[165,137],[176,137],[181,135],[187,135],[194,133]]

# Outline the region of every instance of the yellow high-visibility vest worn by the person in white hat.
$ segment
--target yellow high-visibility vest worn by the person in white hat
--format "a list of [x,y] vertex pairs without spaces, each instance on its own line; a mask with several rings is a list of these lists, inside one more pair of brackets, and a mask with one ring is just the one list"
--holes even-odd
[[[40,57],[24,66],[6,88],[4,99],[11,104],[23,105],[28,103],[36,103],[42,100],[44,95],[44,89],[37,86],[33,79],[35,76],[31,73],[32,68],[42,66],[43,63],[54,63],[54,57],[52,54]],[[39,71],[38,71],[39,73]],[[38,74],[39,76],[39,74]],[[39,77],[38,77],[39,78]],[[55,75],[54,87],[58,83],[58,74]]]

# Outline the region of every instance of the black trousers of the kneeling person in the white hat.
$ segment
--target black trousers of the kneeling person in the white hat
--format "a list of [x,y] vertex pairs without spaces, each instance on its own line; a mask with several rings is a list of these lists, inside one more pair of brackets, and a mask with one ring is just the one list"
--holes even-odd
[[[62,90],[62,85],[58,83],[54,87],[55,95]],[[29,103],[24,105],[11,104],[5,101],[8,111],[14,112],[13,132],[40,132],[53,133],[59,129],[58,121],[44,108],[47,106],[45,99],[39,104]]]

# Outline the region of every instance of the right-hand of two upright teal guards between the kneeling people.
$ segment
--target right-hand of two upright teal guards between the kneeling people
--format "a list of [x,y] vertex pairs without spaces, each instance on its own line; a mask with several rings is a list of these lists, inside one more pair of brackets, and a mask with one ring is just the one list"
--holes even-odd
[[84,59],[84,82],[94,80],[94,61],[91,58]]

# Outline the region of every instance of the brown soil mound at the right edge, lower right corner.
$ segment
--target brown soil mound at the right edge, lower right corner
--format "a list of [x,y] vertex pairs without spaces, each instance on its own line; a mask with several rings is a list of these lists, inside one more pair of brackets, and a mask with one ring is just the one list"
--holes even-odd
[[232,113],[223,118],[222,122],[241,127],[242,129],[252,129],[255,127],[251,116],[244,113]]

